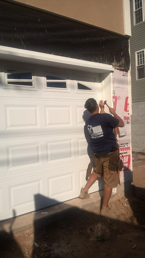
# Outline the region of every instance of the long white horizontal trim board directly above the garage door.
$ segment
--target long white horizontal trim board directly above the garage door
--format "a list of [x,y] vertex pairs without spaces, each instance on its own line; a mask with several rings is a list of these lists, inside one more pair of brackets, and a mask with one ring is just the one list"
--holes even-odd
[[0,46],[0,59],[94,73],[114,71],[112,65],[5,46]]

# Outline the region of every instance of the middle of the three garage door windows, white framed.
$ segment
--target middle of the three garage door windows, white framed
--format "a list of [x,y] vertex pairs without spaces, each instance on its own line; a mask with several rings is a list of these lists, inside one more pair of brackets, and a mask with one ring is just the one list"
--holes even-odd
[[44,72],[44,91],[70,92],[70,85],[67,74]]

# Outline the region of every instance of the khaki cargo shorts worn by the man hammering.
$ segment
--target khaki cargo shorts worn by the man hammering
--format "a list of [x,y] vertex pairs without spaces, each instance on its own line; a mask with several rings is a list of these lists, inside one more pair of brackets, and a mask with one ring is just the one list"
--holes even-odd
[[109,158],[95,158],[95,167],[92,171],[97,177],[104,176],[104,186],[107,188],[115,188],[118,185],[117,171],[110,171]]

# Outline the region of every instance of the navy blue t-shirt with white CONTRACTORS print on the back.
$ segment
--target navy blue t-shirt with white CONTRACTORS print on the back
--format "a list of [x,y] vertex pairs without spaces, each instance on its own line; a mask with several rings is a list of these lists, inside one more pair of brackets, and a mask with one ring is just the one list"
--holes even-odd
[[96,154],[105,155],[112,146],[117,147],[113,128],[119,120],[109,114],[91,115],[85,122],[90,135],[90,148]]

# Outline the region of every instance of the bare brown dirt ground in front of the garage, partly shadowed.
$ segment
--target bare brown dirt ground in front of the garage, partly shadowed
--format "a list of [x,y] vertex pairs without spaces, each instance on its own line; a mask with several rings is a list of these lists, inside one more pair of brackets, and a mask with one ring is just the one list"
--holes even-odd
[[[144,257],[145,156],[133,157],[133,195],[111,201],[112,215],[101,217],[100,206],[76,208],[63,220],[5,235],[0,258]],[[110,239],[91,241],[87,228],[99,222],[109,229]]]

